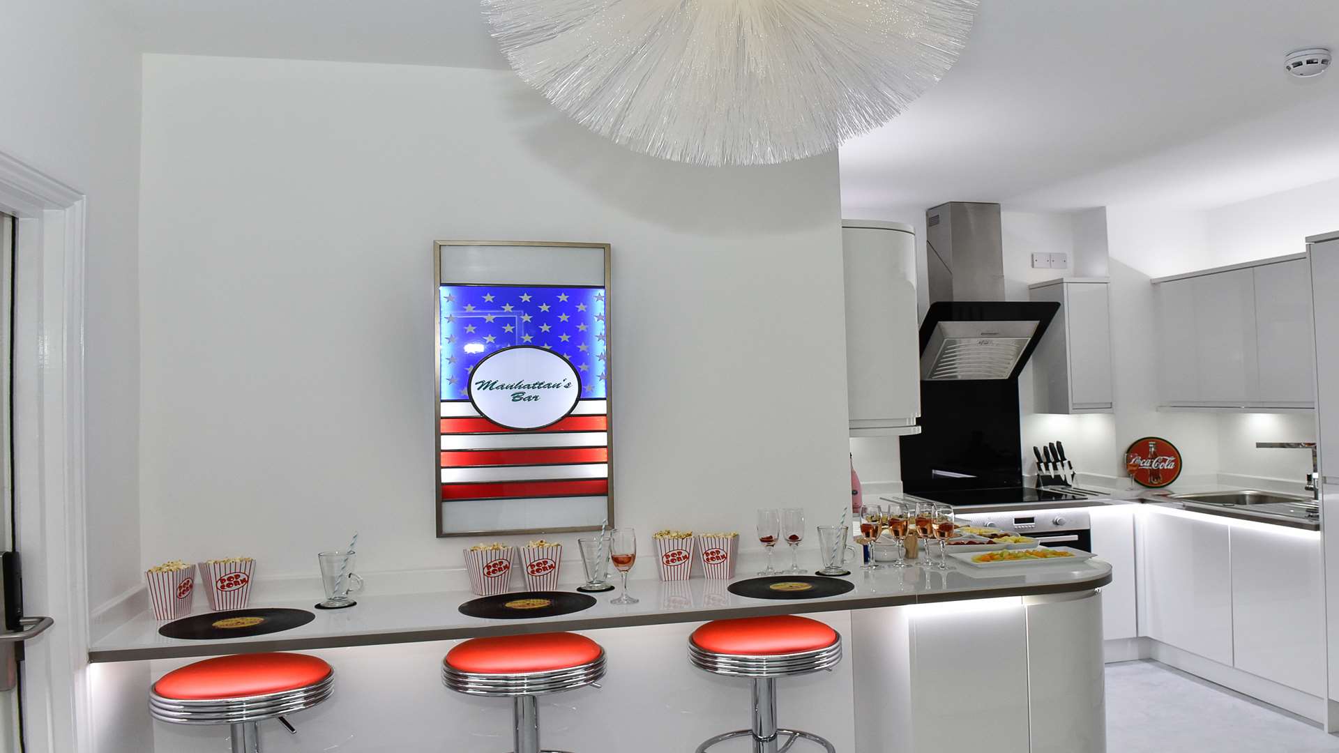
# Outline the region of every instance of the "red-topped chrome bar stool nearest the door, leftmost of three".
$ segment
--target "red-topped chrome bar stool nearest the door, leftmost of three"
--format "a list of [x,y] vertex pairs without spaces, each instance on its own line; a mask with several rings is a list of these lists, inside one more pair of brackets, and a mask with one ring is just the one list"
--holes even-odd
[[149,713],[174,725],[229,725],[233,753],[260,753],[256,722],[284,722],[331,697],[335,670],[305,654],[241,654],[165,674],[149,691]]

